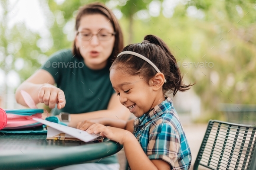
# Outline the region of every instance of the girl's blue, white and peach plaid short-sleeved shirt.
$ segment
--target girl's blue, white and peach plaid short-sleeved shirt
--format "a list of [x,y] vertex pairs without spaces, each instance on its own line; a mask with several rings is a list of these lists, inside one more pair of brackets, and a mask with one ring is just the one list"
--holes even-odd
[[134,125],[133,134],[149,159],[164,160],[171,170],[190,169],[190,148],[170,97],[135,119]]

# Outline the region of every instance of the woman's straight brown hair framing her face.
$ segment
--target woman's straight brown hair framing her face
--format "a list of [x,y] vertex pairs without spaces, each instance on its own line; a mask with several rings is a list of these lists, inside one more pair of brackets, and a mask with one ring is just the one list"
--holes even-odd
[[[121,52],[121,50],[124,47],[121,27],[119,26],[118,20],[115,18],[115,15],[112,13],[110,9],[108,9],[107,6],[105,6],[102,3],[90,3],[79,8],[75,19],[75,31],[77,31],[80,26],[80,20],[82,16],[92,14],[102,14],[103,16],[107,17],[107,19],[109,19],[110,23],[112,23],[115,32],[115,43],[112,53],[108,58],[108,64],[112,64],[118,53]],[[75,46],[75,40],[73,42],[73,54],[76,57],[82,58],[79,48]]]

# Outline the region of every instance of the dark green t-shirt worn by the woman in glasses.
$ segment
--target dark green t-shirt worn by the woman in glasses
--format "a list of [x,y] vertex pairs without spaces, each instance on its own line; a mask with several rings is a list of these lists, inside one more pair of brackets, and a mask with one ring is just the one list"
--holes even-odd
[[92,70],[83,58],[73,56],[71,50],[53,54],[42,69],[52,74],[56,86],[64,91],[66,106],[60,112],[85,113],[108,109],[108,102],[115,90],[109,79],[109,67]]

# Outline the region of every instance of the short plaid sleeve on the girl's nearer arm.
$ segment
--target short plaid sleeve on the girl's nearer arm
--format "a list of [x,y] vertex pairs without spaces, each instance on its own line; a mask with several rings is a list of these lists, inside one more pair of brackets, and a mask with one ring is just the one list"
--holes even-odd
[[149,139],[148,158],[164,160],[174,167],[181,147],[180,137],[174,132],[174,128],[167,123],[157,125],[149,135]]

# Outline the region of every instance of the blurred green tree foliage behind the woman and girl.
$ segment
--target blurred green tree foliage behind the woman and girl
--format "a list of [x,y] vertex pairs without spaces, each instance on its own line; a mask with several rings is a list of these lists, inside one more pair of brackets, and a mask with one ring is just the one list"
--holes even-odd
[[[43,10],[43,4],[48,5],[54,17],[49,27],[53,46],[48,51],[38,47],[39,35],[30,32],[24,24],[17,23],[8,30],[5,17],[10,11],[5,10],[3,22],[0,23],[0,52],[5,58],[12,55],[13,63],[17,58],[24,59],[25,67],[17,71],[21,81],[40,67],[38,56],[49,56],[59,49],[72,47],[72,41],[67,38],[64,29],[74,26],[79,6],[89,2],[92,1],[66,0],[58,5],[53,0],[40,1]],[[116,4],[113,10],[118,9],[123,14],[120,24],[125,45],[141,42],[147,34],[158,35],[167,43],[181,63],[184,82],[196,83],[192,89],[200,96],[207,118],[213,117],[211,115],[221,117],[215,115],[219,114],[218,103],[256,104],[256,1],[181,0],[171,17],[160,13],[157,17],[144,19],[139,19],[138,12],[148,10],[151,0],[102,2]],[[6,9],[3,3],[0,5]],[[161,10],[163,8],[161,6]],[[49,12],[44,11],[49,16]],[[10,44],[21,44],[22,47],[8,52]],[[190,63],[190,68],[183,67],[184,62]],[[213,63],[210,65],[213,67],[209,68],[206,62]],[[15,70],[14,64],[7,67],[1,62],[0,67],[6,73]]]

